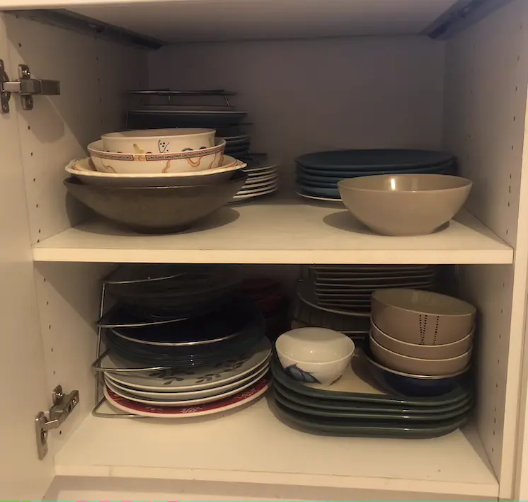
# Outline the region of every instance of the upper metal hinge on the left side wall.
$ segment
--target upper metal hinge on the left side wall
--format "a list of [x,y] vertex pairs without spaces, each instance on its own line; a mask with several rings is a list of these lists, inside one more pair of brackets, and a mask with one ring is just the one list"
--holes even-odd
[[10,81],[4,61],[0,59],[0,108],[2,113],[9,113],[11,93],[21,95],[24,110],[33,110],[33,95],[57,96],[60,94],[60,82],[32,79],[30,69],[25,64],[18,65],[18,80]]

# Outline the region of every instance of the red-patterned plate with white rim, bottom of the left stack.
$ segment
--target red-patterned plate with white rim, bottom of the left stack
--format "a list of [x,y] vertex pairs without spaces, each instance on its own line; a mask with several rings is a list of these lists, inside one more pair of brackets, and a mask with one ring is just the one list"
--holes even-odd
[[226,397],[220,401],[214,401],[207,404],[196,404],[193,406],[182,406],[174,408],[171,406],[152,406],[150,404],[137,403],[130,401],[125,397],[120,397],[105,386],[103,392],[108,402],[121,411],[133,413],[138,416],[150,416],[156,418],[191,418],[195,416],[212,415],[214,413],[222,413],[251,401],[255,401],[262,396],[268,387],[270,387],[271,378],[266,376],[253,384],[253,386],[244,389],[234,396]]

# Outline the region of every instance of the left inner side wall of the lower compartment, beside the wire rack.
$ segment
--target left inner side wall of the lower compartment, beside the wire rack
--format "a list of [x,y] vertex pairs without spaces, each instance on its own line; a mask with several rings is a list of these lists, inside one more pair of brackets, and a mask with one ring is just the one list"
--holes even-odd
[[50,388],[79,390],[76,413],[50,431],[57,453],[95,405],[96,359],[101,279],[115,266],[99,263],[37,263],[35,283],[42,343]]

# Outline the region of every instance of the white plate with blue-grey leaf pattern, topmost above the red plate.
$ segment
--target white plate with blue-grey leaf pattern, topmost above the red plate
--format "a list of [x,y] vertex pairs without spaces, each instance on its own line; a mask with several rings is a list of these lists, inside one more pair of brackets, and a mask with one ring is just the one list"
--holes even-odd
[[[101,367],[112,369],[131,368],[130,372],[111,372],[112,380],[140,390],[177,392],[185,390],[211,389],[228,384],[250,374],[264,363],[271,354],[271,343],[263,336],[253,348],[245,353],[228,358],[217,365],[167,370],[145,370],[142,365],[129,363],[115,355],[105,355]],[[134,371],[135,370],[135,371]]]

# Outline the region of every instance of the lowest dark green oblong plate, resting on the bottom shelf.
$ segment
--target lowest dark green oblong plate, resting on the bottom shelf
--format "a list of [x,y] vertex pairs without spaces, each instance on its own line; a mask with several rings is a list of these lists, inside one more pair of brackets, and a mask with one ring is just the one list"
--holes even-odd
[[354,421],[342,418],[322,418],[304,415],[297,411],[291,411],[282,404],[275,401],[277,411],[286,422],[294,423],[300,428],[315,430],[331,435],[359,435],[376,438],[437,438],[441,435],[451,433],[463,426],[467,420],[466,416],[458,416],[450,420],[435,423],[387,423],[383,421]]

